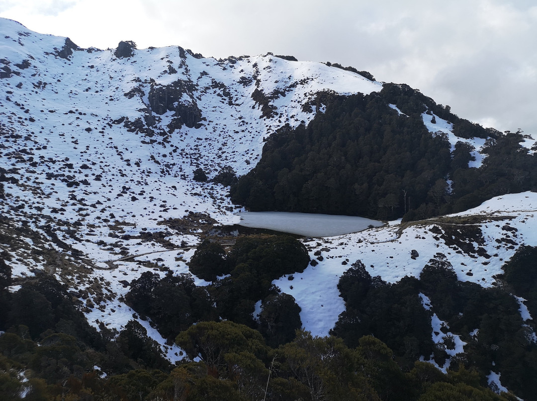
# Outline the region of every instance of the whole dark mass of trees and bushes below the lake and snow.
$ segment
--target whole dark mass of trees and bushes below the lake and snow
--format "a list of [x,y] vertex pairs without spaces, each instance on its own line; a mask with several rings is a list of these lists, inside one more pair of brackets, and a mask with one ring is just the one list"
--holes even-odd
[[[392,285],[371,277],[357,261],[340,279],[347,308],[332,336],[314,337],[289,332],[301,326],[300,308],[270,284],[291,269],[289,261],[298,270],[306,267],[300,242],[286,236],[242,239],[222,255],[230,276],[207,288],[196,287],[186,274],[146,272],[133,280],[126,298],[184,350],[177,366],[163,358],[137,321],[119,333],[92,328],[81,305],[53,277],[38,276],[9,292],[11,272],[2,261],[0,329],[7,330],[0,335],[0,398],[516,399],[486,388],[486,376],[499,370],[507,388],[531,401],[537,384],[533,322],[521,320],[511,291],[534,305],[531,284],[520,280],[533,274],[534,252],[521,248],[499,278],[503,286],[489,289],[458,281],[442,254],[427,263],[419,279],[405,277]],[[239,291],[248,282],[257,295]],[[226,291],[219,292],[222,288]],[[226,298],[223,293],[229,292]],[[419,361],[431,355],[431,362],[444,365],[452,347],[448,337],[444,344],[432,342],[431,312],[419,294],[430,298],[434,313],[467,343],[464,353],[451,358],[447,374]],[[258,320],[251,312],[248,325],[219,319],[224,311],[219,305],[243,305],[244,312],[256,297],[262,299]],[[235,316],[240,320],[246,314]],[[475,329],[478,334],[471,335]]]

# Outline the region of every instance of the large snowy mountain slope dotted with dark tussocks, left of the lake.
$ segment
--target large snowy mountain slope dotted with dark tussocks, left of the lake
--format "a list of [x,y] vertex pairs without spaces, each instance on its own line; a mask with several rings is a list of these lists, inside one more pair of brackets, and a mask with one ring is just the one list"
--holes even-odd
[[[15,277],[54,272],[86,300],[90,321],[117,328],[125,319],[107,316],[121,310],[117,299],[128,291],[119,281],[141,271],[137,263],[111,261],[199,241],[162,226],[165,219],[194,211],[238,221],[226,189],[193,181],[195,168],[209,177],[227,165],[245,173],[263,138],[313,118],[318,92],[381,88],[353,72],[271,55],[216,61],[169,47],[117,58],[113,50],[78,49],[0,22],[8,263]],[[169,235],[153,241],[152,233]],[[166,268],[187,271],[192,253],[181,261],[177,250],[142,259],[160,257]],[[62,269],[63,257],[83,267]]]

